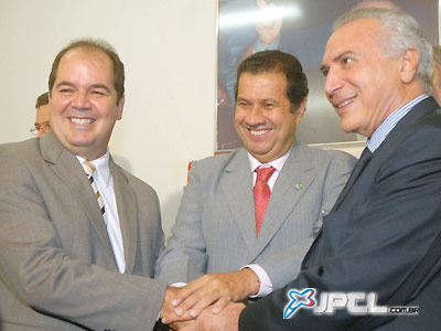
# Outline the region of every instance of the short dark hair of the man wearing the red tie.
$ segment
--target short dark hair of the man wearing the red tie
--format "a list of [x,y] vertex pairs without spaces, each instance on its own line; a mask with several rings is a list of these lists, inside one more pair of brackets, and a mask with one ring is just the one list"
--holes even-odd
[[308,97],[308,79],[299,60],[292,54],[280,51],[263,51],[244,60],[237,68],[235,100],[237,100],[239,78],[243,73],[281,73],[287,77],[287,97],[291,102],[291,113],[295,113]]

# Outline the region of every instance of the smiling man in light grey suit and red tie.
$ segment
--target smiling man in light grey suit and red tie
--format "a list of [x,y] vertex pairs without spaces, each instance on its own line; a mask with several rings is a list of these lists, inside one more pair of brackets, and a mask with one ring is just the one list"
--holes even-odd
[[249,56],[238,67],[235,93],[235,127],[245,148],[193,162],[158,261],[155,278],[191,281],[172,298],[179,314],[263,297],[295,277],[355,163],[346,153],[295,141],[308,82],[293,55]]

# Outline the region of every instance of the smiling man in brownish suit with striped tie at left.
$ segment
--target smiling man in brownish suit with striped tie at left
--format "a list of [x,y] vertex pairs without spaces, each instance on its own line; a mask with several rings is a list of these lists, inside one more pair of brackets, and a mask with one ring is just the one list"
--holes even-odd
[[69,44],[49,79],[51,132],[0,147],[2,331],[153,328],[165,291],[151,279],[158,196],[107,148],[123,81],[110,45]]

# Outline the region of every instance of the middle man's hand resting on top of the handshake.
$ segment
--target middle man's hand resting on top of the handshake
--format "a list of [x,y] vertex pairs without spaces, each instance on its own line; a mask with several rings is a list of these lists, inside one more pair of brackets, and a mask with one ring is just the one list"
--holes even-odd
[[240,301],[256,295],[260,289],[259,278],[250,268],[225,274],[208,274],[189,282],[173,300],[178,316],[197,317],[203,309],[214,303],[213,313],[218,313],[230,301]]

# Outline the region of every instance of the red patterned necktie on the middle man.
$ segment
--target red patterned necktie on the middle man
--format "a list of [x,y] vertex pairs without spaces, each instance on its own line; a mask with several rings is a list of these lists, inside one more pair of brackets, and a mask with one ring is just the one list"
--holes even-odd
[[255,215],[256,215],[256,232],[259,236],[260,227],[263,223],[265,211],[267,210],[268,201],[271,191],[268,186],[268,180],[276,171],[275,168],[257,168],[257,179],[254,188],[255,192]]

